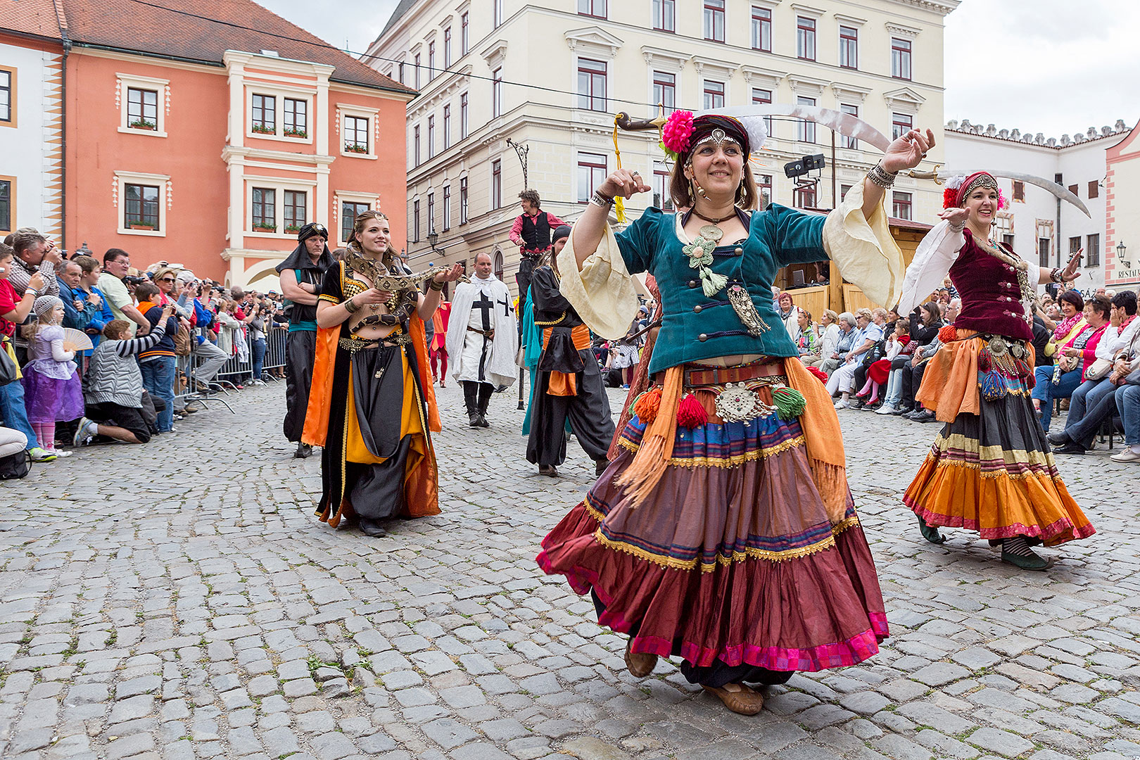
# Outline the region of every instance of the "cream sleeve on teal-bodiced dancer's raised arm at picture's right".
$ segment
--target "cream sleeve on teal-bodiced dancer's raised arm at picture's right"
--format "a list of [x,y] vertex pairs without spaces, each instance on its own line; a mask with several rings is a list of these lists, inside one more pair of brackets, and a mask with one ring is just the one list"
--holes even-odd
[[[893,307],[903,289],[903,252],[890,236],[882,204],[863,216],[863,183],[856,182],[823,224],[823,250],[845,280],[874,303]],[[833,276],[833,275],[832,275]]]

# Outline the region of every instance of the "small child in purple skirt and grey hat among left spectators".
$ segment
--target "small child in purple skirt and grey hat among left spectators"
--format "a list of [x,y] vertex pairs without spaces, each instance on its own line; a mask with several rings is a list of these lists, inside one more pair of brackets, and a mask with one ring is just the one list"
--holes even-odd
[[27,420],[48,451],[67,457],[71,451],[56,449],[56,423],[83,416],[83,389],[72,361],[75,352],[64,350],[64,328],[59,325],[64,302],[54,295],[41,295],[32,310],[39,324],[28,343],[24,367]]

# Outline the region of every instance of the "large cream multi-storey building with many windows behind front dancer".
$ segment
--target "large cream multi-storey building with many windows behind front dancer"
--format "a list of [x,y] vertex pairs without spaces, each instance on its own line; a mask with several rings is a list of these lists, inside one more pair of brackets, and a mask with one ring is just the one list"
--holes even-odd
[[[888,136],[943,124],[943,21],[956,0],[404,0],[365,63],[416,88],[408,106],[408,244],[437,263],[490,253],[513,285],[507,239],[529,185],[543,207],[573,219],[616,166],[613,117],[754,103],[847,111]],[[652,105],[651,105],[652,104]],[[815,124],[774,119],[754,155],[776,203],[829,209],[880,154]],[[527,148],[527,182],[512,144]],[[620,133],[621,165],[653,178],[635,198],[667,205],[668,166],[656,133]],[[944,163],[942,145],[925,169]],[[783,165],[825,155],[814,193]],[[899,178],[894,216],[930,221],[940,189]],[[434,232],[434,250],[427,235]]]

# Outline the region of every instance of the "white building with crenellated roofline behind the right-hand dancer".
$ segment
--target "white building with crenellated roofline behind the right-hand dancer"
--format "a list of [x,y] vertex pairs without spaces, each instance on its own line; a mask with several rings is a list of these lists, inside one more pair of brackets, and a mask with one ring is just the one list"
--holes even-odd
[[[1084,250],[1077,289],[1091,294],[1106,284],[1109,262],[1106,153],[1127,134],[1123,121],[1090,128],[1075,137],[1044,138],[1018,130],[983,128],[969,121],[945,126],[948,169],[1016,171],[1056,181],[1076,195],[1091,214],[1025,182],[999,178],[1008,206],[997,214],[995,237],[1042,267],[1064,267]],[[1115,244],[1114,244],[1115,245]]]

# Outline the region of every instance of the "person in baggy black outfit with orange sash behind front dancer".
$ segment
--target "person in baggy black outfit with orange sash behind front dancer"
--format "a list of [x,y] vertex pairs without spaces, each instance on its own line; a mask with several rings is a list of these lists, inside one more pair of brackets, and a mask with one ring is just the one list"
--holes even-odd
[[610,464],[606,450],[613,438],[610,399],[602,371],[591,351],[589,328],[559,291],[557,254],[570,237],[570,227],[554,231],[554,250],[547,263],[530,275],[535,326],[543,333],[535,395],[530,409],[527,460],[542,475],[556,477],[567,458],[567,419],[583,450],[601,475]]

